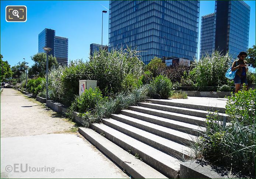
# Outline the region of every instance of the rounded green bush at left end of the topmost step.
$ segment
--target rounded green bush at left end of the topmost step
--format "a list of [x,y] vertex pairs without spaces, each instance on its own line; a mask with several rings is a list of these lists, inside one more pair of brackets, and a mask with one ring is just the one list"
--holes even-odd
[[159,94],[162,99],[168,99],[172,94],[172,82],[166,77],[159,75],[150,83],[149,95]]

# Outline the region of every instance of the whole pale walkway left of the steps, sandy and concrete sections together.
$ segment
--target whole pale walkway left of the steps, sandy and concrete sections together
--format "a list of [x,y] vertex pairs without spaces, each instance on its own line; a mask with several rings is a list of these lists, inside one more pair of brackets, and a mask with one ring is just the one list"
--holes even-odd
[[74,123],[14,89],[1,93],[1,178],[129,178]]

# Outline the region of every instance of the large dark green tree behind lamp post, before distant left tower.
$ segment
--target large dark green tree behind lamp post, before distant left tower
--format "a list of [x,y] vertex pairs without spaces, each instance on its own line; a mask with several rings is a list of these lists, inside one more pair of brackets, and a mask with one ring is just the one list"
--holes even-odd
[[[28,75],[39,75],[44,76],[46,71],[46,53],[37,53],[34,56],[31,56],[31,60],[33,60],[35,63],[32,65],[32,67],[28,71]],[[48,56],[48,68],[50,69],[53,66],[57,66],[58,62],[56,60],[56,57],[53,57],[52,55]]]

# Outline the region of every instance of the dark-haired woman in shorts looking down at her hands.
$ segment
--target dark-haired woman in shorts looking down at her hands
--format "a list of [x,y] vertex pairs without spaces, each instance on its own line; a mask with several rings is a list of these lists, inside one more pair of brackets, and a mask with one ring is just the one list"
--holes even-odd
[[241,84],[243,83],[246,84],[246,89],[248,90],[248,82],[246,79],[246,72],[248,71],[248,64],[244,60],[247,57],[247,53],[245,51],[241,51],[239,55],[237,56],[238,59],[236,59],[231,67],[231,71],[236,71],[235,78],[234,78],[234,83],[235,83],[235,93],[240,90]]

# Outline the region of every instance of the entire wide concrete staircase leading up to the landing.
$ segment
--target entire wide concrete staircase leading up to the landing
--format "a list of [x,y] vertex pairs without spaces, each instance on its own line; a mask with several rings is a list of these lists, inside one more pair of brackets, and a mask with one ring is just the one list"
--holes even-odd
[[225,108],[172,100],[148,102],[79,132],[134,178],[179,178],[180,161],[189,159],[189,145],[206,130],[207,110],[219,111],[228,120]]

